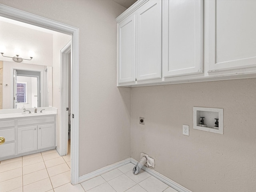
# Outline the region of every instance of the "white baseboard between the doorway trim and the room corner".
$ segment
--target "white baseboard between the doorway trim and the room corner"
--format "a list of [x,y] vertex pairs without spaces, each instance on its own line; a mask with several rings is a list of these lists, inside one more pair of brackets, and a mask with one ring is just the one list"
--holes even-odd
[[84,181],[86,181],[86,180],[89,180],[89,179],[94,178],[94,177],[96,177],[96,176],[99,176],[99,175],[101,175],[101,174],[104,174],[104,173],[106,173],[106,172],[109,172],[109,171],[111,171],[111,170],[114,170],[114,169],[116,169],[116,168],[118,168],[118,167],[121,167],[121,166],[123,166],[123,165],[126,165],[126,164],[128,164],[128,163],[130,163],[130,162],[131,162],[131,158],[128,158],[128,159],[122,160],[122,161],[120,161],[120,162],[117,162],[117,163],[115,163],[115,164],[112,164],[112,165],[106,166],[106,167],[104,167],[104,168],[98,169],[98,170],[96,170],[96,171],[94,171],[94,172],[90,172],[90,173],[88,173],[88,174],[85,174],[85,175],[83,175],[83,176],[80,176],[80,177],[78,178],[78,182],[79,182],[79,183],[84,182]]

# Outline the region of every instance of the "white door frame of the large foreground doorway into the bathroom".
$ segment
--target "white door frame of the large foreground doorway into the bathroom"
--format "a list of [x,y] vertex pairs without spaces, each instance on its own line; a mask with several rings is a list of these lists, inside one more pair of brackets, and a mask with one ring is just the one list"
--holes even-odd
[[[79,166],[79,28],[0,4],[0,16],[72,35],[71,43],[71,184],[78,184]],[[60,101],[62,102],[62,101]]]

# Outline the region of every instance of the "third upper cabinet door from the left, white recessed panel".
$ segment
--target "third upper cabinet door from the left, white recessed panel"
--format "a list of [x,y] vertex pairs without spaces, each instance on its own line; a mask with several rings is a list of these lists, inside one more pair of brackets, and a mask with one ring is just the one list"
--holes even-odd
[[202,73],[202,0],[164,0],[164,77]]

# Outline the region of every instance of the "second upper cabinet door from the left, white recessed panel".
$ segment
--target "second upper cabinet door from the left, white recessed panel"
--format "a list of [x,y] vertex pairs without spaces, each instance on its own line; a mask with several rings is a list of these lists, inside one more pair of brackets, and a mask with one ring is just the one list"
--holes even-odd
[[150,0],[137,11],[137,81],[161,78],[162,1]]

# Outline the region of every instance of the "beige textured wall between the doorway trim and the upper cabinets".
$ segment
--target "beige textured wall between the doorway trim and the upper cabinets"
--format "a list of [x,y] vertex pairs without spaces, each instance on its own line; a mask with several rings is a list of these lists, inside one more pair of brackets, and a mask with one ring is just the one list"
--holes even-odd
[[112,0],[0,0],[79,28],[79,176],[130,157],[130,88],[116,87]]

